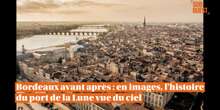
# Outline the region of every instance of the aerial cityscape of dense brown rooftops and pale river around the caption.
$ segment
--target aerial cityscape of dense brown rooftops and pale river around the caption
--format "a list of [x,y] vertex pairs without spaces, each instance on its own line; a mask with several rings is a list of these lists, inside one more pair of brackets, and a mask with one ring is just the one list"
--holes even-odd
[[[203,23],[149,21],[145,15],[137,22],[17,21],[17,81],[202,82]],[[58,110],[57,106],[62,110],[193,110],[199,93],[143,95],[143,104],[17,106],[25,110]],[[202,106],[203,101],[199,103]]]

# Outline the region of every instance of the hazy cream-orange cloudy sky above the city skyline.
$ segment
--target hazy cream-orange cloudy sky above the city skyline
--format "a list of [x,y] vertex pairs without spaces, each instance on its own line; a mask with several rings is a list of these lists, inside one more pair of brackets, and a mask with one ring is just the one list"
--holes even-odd
[[17,0],[17,21],[202,22],[192,0]]

